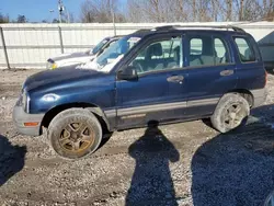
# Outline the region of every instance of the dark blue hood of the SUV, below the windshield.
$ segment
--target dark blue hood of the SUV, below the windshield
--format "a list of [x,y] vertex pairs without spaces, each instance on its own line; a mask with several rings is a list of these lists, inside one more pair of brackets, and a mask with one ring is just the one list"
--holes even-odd
[[98,79],[106,75],[107,73],[91,69],[77,69],[76,67],[45,70],[28,77],[23,84],[23,89],[30,91],[38,88],[46,89],[56,85],[64,87],[73,82],[80,82],[81,80],[84,81],[87,79],[92,81],[92,79]]

